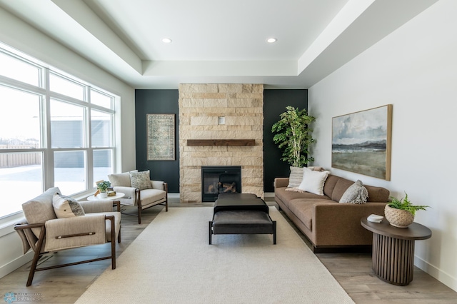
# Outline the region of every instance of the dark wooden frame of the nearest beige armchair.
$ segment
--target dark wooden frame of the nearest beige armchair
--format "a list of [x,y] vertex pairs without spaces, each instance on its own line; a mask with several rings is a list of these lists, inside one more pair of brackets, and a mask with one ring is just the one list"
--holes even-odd
[[[117,206],[117,211],[121,211],[121,206],[119,201],[114,202],[114,206]],[[116,228],[115,228],[115,222],[114,222],[114,216],[106,216],[106,220],[109,220],[111,223],[111,255],[107,255],[101,258],[94,258],[90,260],[81,260],[78,262],[74,263],[64,263],[64,264],[59,264],[59,265],[52,265],[48,267],[42,267],[42,268],[37,268],[36,265],[38,264],[38,261],[41,257],[41,255],[44,255],[45,253],[49,252],[41,252],[41,248],[43,247],[44,244],[44,239],[46,238],[46,228],[45,228],[45,223],[36,223],[36,224],[16,224],[14,226],[15,230],[25,230],[25,229],[31,229],[31,228],[41,228],[38,242],[36,244],[35,248],[35,253],[34,253],[34,258],[31,263],[30,267],[30,272],[29,272],[29,278],[27,279],[26,286],[30,286],[32,283],[32,280],[34,280],[34,275],[36,271],[41,271],[41,270],[49,270],[49,269],[54,269],[54,268],[61,268],[61,267],[66,267],[66,266],[73,266],[73,265],[79,265],[79,264],[84,264],[84,263],[90,263],[90,262],[95,262],[97,260],[108,260],[111,259],[111,269],[116,269]],[[81,236],[81,235],[90,235],[90,233],[78,233],[78,234],[72,234],[72,235],[61,235],[61,238],[71,238],[75,236]],[[118,243],[121,243],[121,229],[119,228],[119,234],[117,237]]]

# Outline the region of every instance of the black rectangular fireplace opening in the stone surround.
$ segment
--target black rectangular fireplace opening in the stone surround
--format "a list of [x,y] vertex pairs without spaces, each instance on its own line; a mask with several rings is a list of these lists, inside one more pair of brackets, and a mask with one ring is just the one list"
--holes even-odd
[[219,193],[241,193],[241,166],[201,167],[201,201],[214,202]]

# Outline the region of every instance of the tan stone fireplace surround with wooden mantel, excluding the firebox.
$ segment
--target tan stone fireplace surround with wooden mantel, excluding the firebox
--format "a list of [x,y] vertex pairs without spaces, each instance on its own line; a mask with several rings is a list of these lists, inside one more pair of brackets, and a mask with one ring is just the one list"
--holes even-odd
[[179,85],[181,203],[202,201],[202,166],[240,166],[263,198],[263,84]]

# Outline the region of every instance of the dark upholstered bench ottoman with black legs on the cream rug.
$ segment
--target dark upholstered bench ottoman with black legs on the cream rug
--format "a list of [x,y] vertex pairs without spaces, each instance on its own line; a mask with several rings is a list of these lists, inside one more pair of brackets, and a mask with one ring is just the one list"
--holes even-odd
[[253,194],[219,195],[209,221],[210,245],[213,234],[273,234],[276,244],[276,221],[271,221],[266,203]]

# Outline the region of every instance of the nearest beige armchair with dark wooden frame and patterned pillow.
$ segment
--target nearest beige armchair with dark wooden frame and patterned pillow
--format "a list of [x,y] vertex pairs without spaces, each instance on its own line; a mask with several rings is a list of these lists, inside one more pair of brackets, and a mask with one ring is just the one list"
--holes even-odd
[[[22,204],[26,222],[14,226],[21,237],[24,254],[30,249],[35,252],[27,286],[31,285],[35,272],[39,270],[106,259],[111,259],[111,268],[116,269],[116,238],[118,243],[121,243],[119,202],[116,202],[117,212],[113,212],[112,200],[76,202],[67,197],[59,198],[59,193],[59,188],[49,188],[40,196]],[[58,202],[61,201],[61,205],[56,205],[56,199]],[[111,243],[110,255],[74,263],[37,267],[39,258],[44,253],[104,243]]]

